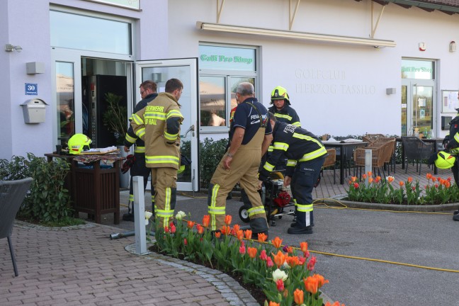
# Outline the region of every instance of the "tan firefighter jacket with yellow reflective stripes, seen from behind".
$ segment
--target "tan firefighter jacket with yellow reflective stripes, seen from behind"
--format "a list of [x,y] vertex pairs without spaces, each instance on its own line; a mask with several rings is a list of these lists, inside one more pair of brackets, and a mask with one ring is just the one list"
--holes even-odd
[[180,167],[180,125],[183,115],[175,96],[160,93],[132,115],[135,135],[145,141],[145,164],[149,168]]

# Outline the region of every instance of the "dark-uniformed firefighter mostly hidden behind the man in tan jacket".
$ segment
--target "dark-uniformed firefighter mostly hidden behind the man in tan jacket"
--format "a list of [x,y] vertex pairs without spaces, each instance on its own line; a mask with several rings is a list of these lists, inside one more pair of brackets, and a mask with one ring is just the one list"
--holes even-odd
[[[140,96],[142,101],[137,103],[134,108],[133,114],[137,113],[141,109],[145,108],[147,104],[158,96],[157,94],[157,84],[154,81],[143,81],[139,86]],[[129,121],[132,121],[132,115],[129,118]],[[129,126],[128,132],[126,132],[125,141],[124,141],[124,150],[129,152],[129,148],[134,146],[134,157],[135,162],[130,166],[130,183],[129,183],[129,205],[128,213],[123,215],[123,220],[125,221],[134,221],[134,186],[132,184],[133,176],[143,176],[144,179],[144,193],[147,188],[148,176],[150,174],[150,169],[145,165],[145,142],[141,140],[137,135],[135,135],[132,126]],[[152,182],[151,182],[152,183]],[[152,193],[152,212],[154,212],[154,187],[153,183],[151,186]],[[132,210],[131,210],[132,208]]]

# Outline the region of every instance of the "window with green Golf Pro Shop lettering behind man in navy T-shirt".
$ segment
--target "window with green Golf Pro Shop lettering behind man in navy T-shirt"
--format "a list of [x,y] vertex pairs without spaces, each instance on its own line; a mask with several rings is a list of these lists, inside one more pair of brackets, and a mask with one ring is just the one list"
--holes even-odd
[[236,88],[242,81],[256,87],[256,48],[199,46],[200,131],[227,132]]

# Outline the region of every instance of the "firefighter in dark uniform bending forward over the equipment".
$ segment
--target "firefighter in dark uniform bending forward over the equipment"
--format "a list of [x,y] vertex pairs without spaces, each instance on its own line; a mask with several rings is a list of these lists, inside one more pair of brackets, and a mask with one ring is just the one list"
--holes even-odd
[[312,234],[312,189],[327,157],[327,149],[312,132],[279,122],[273,113],[269,115],[274,149],[259,178],[261,181],[268,179],[278,160],[288,159],[284,185],[291,186],[296,200],[296,222],[288,229],[288,234]]

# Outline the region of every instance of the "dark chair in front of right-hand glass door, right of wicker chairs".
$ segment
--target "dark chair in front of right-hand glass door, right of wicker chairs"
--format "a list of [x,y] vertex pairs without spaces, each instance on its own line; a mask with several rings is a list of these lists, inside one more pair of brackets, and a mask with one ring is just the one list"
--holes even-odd
[[434,143],[426,143],[416,136],[404,136],[402,137],[402,145],[404,149],[404,160],[402,161],[405,165],[405,173],[408,171],[408,162],[411,160],[414,165],[416,161],[416,171],[419,175],[421,174],[421,166],[423,159],[429,159],[433,153],[435,153]]

